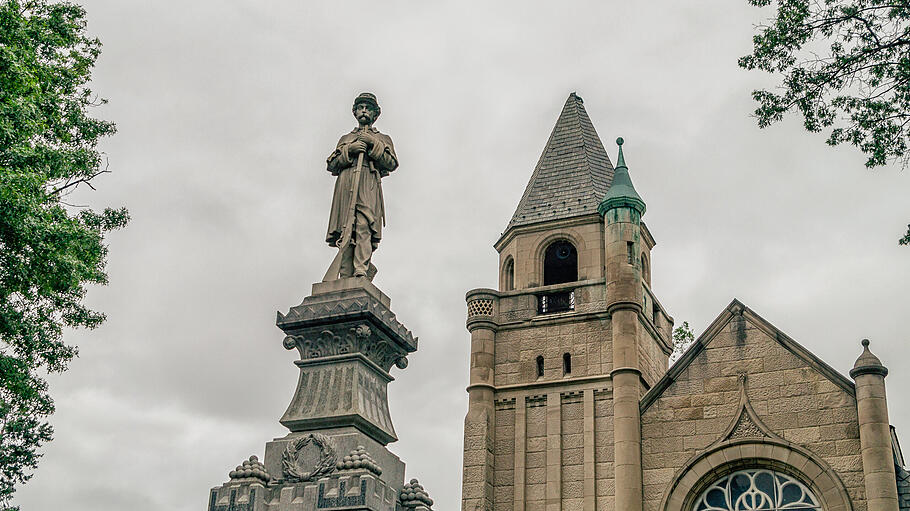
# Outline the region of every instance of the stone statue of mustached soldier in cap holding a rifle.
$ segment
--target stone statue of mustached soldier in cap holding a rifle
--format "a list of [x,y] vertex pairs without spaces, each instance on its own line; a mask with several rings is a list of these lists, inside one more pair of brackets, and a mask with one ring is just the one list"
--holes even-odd
[[373,279],[376,267],[370,260],[385,225],[381,180],[398,167],[392,139],[373,127],[380,113],[376,96],[369,92],[357,96],[353,113],[357,128],[341,137],[326,160],[328,171],[337,176],[326,242],[339,253],[323,281]]

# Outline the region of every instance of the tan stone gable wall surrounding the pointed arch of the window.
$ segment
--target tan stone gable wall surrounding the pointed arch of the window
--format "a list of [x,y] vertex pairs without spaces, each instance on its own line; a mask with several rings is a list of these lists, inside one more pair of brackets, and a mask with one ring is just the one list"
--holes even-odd
[[644,509],[656,511],[688,459],[714,443],[739,407],[739,374],[758,417],[837,473],[865,511],[855,398],[742,316],[710,340],[642,416]]

